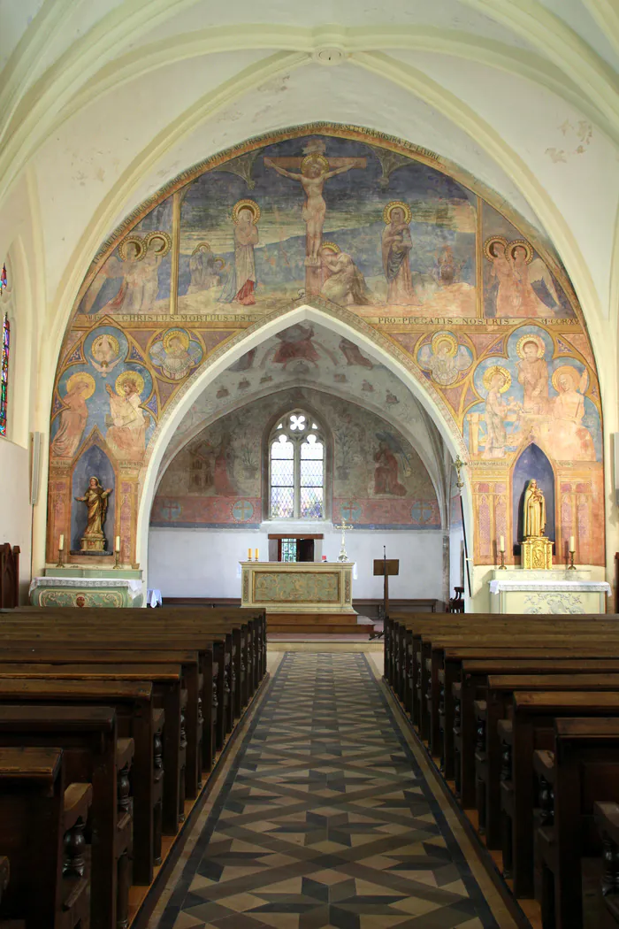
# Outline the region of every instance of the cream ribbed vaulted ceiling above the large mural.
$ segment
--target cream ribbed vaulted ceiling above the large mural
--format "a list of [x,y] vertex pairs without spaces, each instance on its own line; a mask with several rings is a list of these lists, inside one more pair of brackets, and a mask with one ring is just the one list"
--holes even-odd
[[136,204],[315,120],[406,138],[495,189],[555,243],[594,347],[616,343],[614,0],[0,0],[0,20],[0,256],[19,242],[46,378]]

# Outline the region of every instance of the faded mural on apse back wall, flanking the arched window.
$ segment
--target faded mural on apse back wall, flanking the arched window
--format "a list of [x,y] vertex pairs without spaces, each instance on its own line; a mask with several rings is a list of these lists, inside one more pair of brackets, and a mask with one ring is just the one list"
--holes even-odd
[[202,429],[167,465],[151,525],[258,526],[269,422],[303,402],[332,434],[329,513],[368,529],[440,530],[432,480],[406,438],[374,413],[310,388],[277,391]]

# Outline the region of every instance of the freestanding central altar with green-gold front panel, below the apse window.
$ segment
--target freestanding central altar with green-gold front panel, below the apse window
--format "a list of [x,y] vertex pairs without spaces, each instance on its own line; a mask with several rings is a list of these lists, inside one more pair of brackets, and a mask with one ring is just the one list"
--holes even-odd
[[355,613],[352,561],[241,561],[241,607]]

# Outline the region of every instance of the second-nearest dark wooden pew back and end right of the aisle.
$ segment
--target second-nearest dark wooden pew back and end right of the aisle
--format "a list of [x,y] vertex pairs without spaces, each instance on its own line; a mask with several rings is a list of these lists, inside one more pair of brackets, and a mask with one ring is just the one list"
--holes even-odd
[[552,749],[559,717],[619,716],[619,693],[527,692],[513,695],[512,718],[498,723],[503,743],[501,810],[504,816],[504,873],[513,872],[514,894],[534,892],[535,749]]

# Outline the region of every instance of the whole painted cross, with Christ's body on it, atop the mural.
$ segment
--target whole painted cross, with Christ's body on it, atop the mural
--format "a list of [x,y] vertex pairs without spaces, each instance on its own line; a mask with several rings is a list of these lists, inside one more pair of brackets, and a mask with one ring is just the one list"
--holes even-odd
[[[299,181],[305,194],[303,219],[305,220],[305,294],[312,296],[320,293],[320,248],[322,229],[327,215],[327,203],[323,197],[325,181],[330,177],[344,174],[351,168],[365,168],[367,158],[327,158],[318,151],[312,151],[303,158],[277,157],[265,158],[264,165],[273,168],[281,177]],[[298,171],[290,171],[298,168]]]

